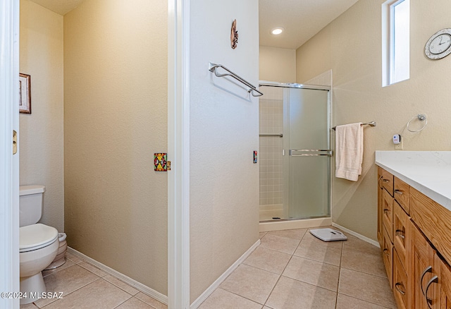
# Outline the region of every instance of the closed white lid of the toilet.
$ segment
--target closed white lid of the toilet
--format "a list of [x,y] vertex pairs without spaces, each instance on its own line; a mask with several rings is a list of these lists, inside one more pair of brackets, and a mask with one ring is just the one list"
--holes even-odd
[[31,224],[19,228],[19,252],[37,250],[49,246],[58,238],[58,231],[44,224]]

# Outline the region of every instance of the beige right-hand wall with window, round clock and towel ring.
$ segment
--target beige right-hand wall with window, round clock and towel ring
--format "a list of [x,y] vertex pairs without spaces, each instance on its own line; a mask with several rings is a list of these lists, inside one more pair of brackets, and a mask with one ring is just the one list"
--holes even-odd
[[[375,150],[394,150],[392,136],[404,138],[404,150],[451,150],[451,57],[424,56],[433,33],[448,28],[451,2],[411,0],[410,79],[381,87],[381,4],[361,0],[297,50],[297,82],[333,71],[333,124],[376,121],[365,128],[363,174],[357,183],[334,178],[333,222],[376,240]],[[421,133],[406,123],[428,116]]]

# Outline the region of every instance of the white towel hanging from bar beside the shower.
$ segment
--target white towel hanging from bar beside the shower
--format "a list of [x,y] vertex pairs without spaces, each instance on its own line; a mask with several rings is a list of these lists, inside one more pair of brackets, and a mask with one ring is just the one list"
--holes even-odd
[[335,128],[335,177],[357,181],[362,174],[364,127],[351,123]]

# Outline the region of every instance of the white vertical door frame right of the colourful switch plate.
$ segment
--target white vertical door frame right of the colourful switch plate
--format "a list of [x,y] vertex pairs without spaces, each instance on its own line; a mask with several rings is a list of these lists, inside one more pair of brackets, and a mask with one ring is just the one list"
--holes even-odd
[[168,309],[190,308],[190,0],[168,0]]

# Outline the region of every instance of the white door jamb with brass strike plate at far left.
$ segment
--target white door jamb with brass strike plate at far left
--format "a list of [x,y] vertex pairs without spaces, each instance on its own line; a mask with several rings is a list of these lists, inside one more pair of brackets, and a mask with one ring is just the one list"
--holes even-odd
[[[19,1],[0,0],[0,48],[0,291],[18,292],[19,152],[13,155],[12,134],[19,133]],[[1,297],[0,308],[19,308],[19,299]]]

